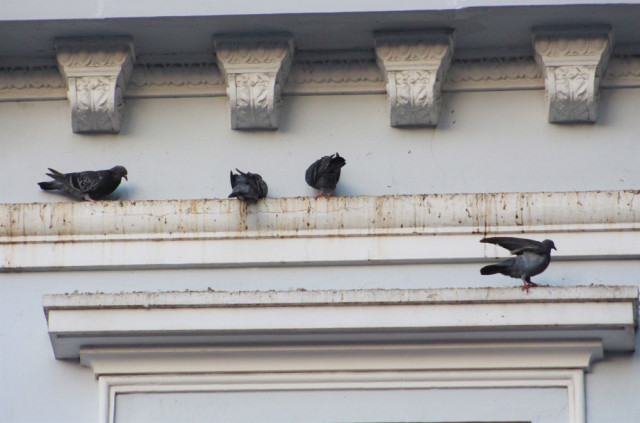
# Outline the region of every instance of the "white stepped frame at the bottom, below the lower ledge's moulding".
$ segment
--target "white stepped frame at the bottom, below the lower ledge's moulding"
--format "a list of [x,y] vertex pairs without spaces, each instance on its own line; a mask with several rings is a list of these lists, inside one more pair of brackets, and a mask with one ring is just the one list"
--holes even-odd
[[[582,370],[492,370],[331,372],[282,374],[116,375],[98,378],[98,422],[115,423],[116,402],[123,394],[224,393],[260,391],[433,390],[433,389],[566,390],[567,423],[585,423],[585,383]],[[468,408],[468,407],[465,407]],[[538,410],[544,411],[544,410]],[[456,411],[452,410],[455,415]],[[520,418],[541,421],[541,413]],[[543,414],[543,413],[542,413]],[[520,418],[518,420],[520,420]],[[465,419],[466,420],[466,419]]]

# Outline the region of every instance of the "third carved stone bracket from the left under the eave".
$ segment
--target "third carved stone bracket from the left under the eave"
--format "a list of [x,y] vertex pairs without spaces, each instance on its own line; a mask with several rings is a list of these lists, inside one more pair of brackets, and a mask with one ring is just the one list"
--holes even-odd
[[387,81],[391,126],[436,126],[453,32],[377,33],[375,51]]

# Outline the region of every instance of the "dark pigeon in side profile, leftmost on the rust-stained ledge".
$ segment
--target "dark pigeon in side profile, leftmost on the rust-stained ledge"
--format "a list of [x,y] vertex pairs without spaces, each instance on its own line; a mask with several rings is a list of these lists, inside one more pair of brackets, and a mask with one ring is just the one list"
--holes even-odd
[[105,170],[85,170],[83,172],[60,173],[49,168],[53,181],[38,182],[45,191],[62,190],[78,200],[96,201],[111,194],[118,188],[122,178],[127,181],[127,169],[124,166],[114,166]]

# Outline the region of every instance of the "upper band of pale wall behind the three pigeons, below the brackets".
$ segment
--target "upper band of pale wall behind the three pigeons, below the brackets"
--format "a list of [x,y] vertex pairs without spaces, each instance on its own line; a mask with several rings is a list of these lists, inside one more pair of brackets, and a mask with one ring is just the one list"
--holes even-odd
[[394,129],[382,95],[288,97],[278,131],[241,132],[225,98],[129,100],[122,132],[98,136],[71,133],[66,101],[0,103],[2,201],[65,201],[36,185],[47,167],[116,164],[125,200],[225,198],[235,167],[271,197],[310,195],[305,169],[336,151],[339,195],[636,189],[639,101],[605,90],[596,124],[563,126],[546,122],[543,91],[451,93],[436,129]]

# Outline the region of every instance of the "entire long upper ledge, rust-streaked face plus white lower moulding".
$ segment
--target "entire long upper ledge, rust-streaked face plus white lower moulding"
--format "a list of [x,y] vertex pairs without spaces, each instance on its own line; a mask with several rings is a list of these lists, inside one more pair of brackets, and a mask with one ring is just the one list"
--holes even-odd
[[636,191],[4,204],[0,213],[5,272],[477,263],[503,255],[478,243],[495,234],[551,238],[554,260],[640,258]]

